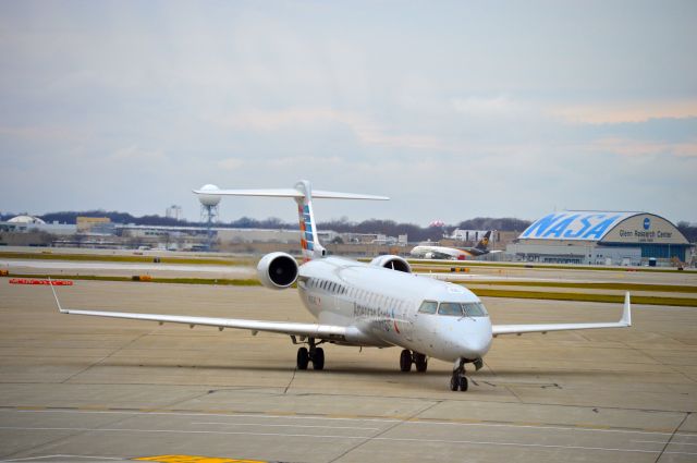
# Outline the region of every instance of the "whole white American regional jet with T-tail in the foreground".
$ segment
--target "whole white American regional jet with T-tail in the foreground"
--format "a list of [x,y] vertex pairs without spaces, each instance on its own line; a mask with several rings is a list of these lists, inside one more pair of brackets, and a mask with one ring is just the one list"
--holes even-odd
[[[209,195],[210,192],[194,191]],[[492,325],[486,307],[472,291],[444,281],[412,273],[406,259],[383,255],[370,263],[329,256],[317,240],[313,199],[389,199],[384,196],[313,191],[308,181],[284,190],[220,190],[220,196],[290,197],[297,203],[303,263],[290,254],[265,255],[257,265],[260,282],[272,290],[297,285],[303,305],[317,319],[315,324],[261,321],[239,318],[138,314],[64,308],[53,290],[61,314],[111,317],[195,326],[249,330],[289,336],[297,350],[296,368],[325,368],[323,343],[351,346],[402,348],[400,369],[426,371],[429,358],[453,363],[452,391],[468,389],[465,365],[484,365],[492,338],[502,334],[624,328],[632,325],[629,293],[620,321]]]

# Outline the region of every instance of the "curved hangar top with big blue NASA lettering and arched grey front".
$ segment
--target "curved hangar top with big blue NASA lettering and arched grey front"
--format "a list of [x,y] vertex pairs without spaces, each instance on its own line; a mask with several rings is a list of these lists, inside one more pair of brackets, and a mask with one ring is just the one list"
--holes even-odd
[[649,212],[564,210],[528,227],[518,240],[687,244],[673,223]]

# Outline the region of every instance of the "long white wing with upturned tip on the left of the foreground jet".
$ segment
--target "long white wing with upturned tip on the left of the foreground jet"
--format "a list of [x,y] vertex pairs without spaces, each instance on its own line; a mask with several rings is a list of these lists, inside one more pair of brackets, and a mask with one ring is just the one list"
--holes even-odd
[[337,325],[318,325],[318,324],[298,324],[290,321],[264,321],[264,320],[247,320],[241,318],[215,318],[215,317],[192,317],[185,315],[160,315],[160,314],[136,314],[130,312],[107,312],[107,310],[83,310],[63,308],[53,285],[53,297],[58,304],[58,309],[61,314],[71,315],[88,315],[94,317],[110,317],[110,318],[124,318],[130,320],[148,320],[158,321],[160,324],[183,324],[194,327],[196,325],[217,327],[222,330],[223,328],[245,329],[254,332],[267,331],[276,332],[288,336],[297,336],[305,338],[317,339],[343,339],[348,330],[347,327]]

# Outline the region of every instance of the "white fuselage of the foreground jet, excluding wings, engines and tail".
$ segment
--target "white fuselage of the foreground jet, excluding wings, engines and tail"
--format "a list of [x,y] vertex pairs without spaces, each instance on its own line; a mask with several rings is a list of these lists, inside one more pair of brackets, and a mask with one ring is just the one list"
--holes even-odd
[[340,257],[302,265],[297,285],[319,324],[353,329],[347,343],[399,345],[449,362],[481,358],[491,345],[488,316],[418,312],[424,301],[480,302],[461,285]]

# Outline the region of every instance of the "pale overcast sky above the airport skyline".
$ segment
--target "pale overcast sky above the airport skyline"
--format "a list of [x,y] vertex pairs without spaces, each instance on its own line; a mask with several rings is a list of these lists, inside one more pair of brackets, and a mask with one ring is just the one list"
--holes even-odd
[[3,1],[0,211],[198,219],[205,183],[308,179],[392,198],[319,220],[697,222],[696,24],[696,1]]

